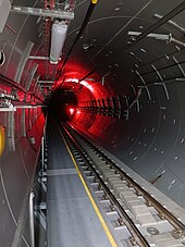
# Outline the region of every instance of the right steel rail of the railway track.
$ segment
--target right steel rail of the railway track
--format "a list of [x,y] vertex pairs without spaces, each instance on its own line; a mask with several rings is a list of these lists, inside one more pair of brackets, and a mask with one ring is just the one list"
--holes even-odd
[[[72,128],[72,126],[70,126]],[[79,134],[74,127],[73,129],[77,135],[86,141],[99,156],[103,158],[126,182],[135,188],[135,190],[143,196],[150,206],[155,207],[156,210],[165,218],[171,225],[177,231],[176,233],[182,236],[185,235],[185,225],[174,217],[168,209],[165,209],[157,199],[155,199],[148,192],[146,192],[140,185],[138,185],[131,176],[128,176],[121,168],[119,168],[110,158],[108,158],[99,148],[86,139],[82,134]]]

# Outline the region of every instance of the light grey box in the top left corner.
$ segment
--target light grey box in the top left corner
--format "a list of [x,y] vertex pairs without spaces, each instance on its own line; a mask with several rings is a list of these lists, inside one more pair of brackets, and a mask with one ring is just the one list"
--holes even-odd
[[0,33],[3,32],[5,22],[11,11],[11,3],[9,0],[0,0]]

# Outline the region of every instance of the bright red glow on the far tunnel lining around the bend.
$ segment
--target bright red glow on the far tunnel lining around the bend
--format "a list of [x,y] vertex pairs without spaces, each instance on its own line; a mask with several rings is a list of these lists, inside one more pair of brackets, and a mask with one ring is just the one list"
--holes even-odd
[[[79,66],[78,66],[79,65]],[[81,64],[74,62],[69,63],[60,79],[62,87],[73,90],[77,98],[78,108],[67,110],[71,115],[71,123],[84,132],[90,133],[95,136],[107,135],[107,129],[112,123],[112,118],[107,115],[89,112],[84,107],[90,104],[94,100],[107,99],[113,97],[113,90],[108,85],[108,77],[103,82],[102,76],[98,72],[81,81],[90,72],[90,69],[83,67]],[[88,102],[88,103],[87,103]]]

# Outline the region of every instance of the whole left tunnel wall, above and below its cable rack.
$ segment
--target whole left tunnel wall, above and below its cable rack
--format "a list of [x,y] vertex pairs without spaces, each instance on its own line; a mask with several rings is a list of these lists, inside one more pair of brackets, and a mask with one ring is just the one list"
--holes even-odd
[[[35,28],[39,23],[33,16],[10,14],[7,24],[0,34],[0,50],[5,54],[0,74],[8,77],[10,84],[0,77],[0,103],[3,108],[3,103],[11,102],[9,96],[14,95],[13,104],[17,108],[0,110],[0,125],[5,127],[5,146],[0,157],[0,246],[25,247],[30,246],[28,196],[45,126],[40,102],[29,94],[35,90],[40,97],[36,74],[32,77],[36,63],[28,60],[29,53],[40,48]],[[17,88],[11,85],[13,82],[17,83]],[[5,100],[2,95],[7,95]]]

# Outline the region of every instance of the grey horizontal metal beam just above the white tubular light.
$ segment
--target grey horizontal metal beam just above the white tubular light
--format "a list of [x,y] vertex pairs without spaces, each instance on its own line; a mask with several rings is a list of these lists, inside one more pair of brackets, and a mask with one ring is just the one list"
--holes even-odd
[[42,17],[74,20],[73,12],[61,11],[61,10],[48,10],[48,9],[38,9],[38,8],[30,8],[30,7],[12,5],[11,12],[16,14],[37,15]]

